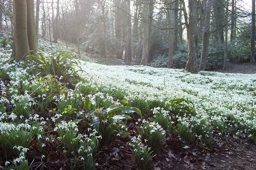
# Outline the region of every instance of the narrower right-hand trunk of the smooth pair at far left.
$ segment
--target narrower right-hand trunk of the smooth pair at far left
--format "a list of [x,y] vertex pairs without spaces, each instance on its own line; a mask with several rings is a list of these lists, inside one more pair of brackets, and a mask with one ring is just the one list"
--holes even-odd
[[34,10],[34,0],[27,1],[27,36],[29,40],[29,49],[32,51],[32,54],[35,55],[35,52],[38,48],[37,35],[35,29],[35,10]]

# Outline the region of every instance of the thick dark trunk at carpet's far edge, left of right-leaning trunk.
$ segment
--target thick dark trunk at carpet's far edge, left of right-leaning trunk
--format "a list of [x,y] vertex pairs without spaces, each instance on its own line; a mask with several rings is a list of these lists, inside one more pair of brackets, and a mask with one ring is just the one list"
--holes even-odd
[[189,72],[197,72],[198,51],[196,42],[196,25],[197,25],[197,0],[189,0],[189,23],[188,23],[188,61],[186,70]]

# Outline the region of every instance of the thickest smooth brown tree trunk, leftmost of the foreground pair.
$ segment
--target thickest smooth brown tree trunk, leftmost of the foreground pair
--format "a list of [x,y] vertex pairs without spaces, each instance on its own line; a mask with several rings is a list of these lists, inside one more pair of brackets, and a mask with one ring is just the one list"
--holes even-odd
[[27,4],[26,0],[14,0],[14,30],[16,61],[29,55],[29,40],[27,32]]

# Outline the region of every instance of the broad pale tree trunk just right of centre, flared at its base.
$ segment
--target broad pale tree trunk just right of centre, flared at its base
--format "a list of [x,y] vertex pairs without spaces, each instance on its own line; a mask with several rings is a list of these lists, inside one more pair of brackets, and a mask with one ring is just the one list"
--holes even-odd
[[148,0],[143,0],[143,51],[142,59],[140,64],[148,64],[148,53],[149,53],[149,30],[148,30]]

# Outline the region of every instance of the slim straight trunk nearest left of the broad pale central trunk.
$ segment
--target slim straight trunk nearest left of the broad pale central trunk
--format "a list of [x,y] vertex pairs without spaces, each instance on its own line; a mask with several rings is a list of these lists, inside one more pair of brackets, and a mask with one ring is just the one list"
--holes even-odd
[[126,44],[125,53],[127,54],[126,64],[131,65],[131,2],[130,0],[126,0],[126,3],[127,3],[128,33],[127,33],[127,44]]

